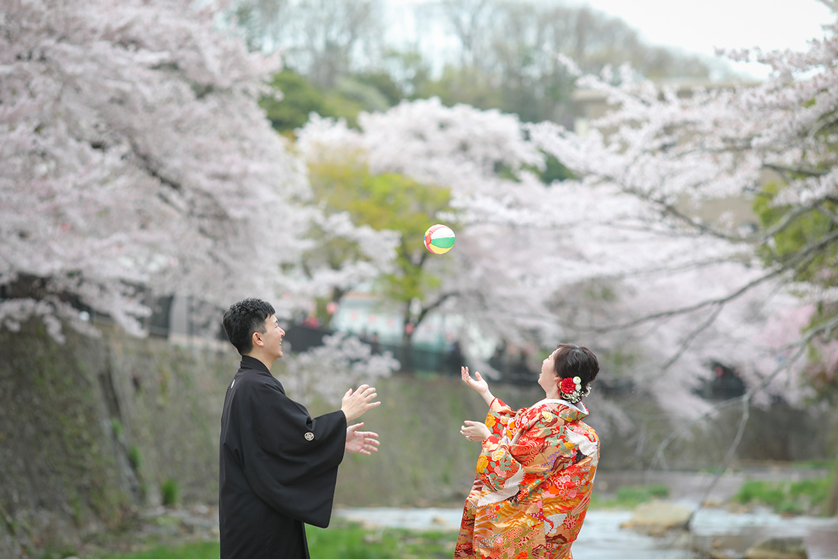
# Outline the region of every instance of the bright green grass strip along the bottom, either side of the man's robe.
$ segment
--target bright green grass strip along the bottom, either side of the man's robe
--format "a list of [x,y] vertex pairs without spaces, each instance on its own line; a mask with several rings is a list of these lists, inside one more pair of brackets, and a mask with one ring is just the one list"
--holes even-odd
[[[328,529],[306,526],[308,548],[318,559],[449,559],[455,532],[370,530],[358,524],[333,520]],[[106,553],[96,559],[218,559],[218,541],[157,545],[145,551]]]

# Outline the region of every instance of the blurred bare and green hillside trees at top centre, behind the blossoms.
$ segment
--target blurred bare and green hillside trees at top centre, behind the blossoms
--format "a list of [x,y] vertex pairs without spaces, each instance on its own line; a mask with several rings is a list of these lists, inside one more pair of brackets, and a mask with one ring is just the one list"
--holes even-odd
[[432,96],[566,123],[575,75],[562,55],[586,73],[629,64],[654,80],[733,75],[719,60],[646,44],[622,19],[561,2],[441,0],[398,11],[380,0],[239,0],[227,18],[251,49],[282,56],[272,82],[282,101],[261,101],[279,132],[311,111],[354,126],[360,111]]

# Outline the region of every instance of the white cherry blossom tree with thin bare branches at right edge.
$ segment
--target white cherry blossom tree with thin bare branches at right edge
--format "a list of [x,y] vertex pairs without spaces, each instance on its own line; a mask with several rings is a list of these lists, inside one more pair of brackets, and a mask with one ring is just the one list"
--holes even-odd
[[[823,3],[838,12],[838,3]],[[599,91],[613,111],[585,136],[550,123],[529,128],[537,145],[582,178],[580,185],[612,189],[641,204],[655,228],[695,239],[682,246],[688,252],[660,260],[664,267],[649,267],[649,285],[635,281],[626,292],[633,282],[623,276],[619,299],[635,304],[618,331],[645,328],[658,340],[672,338],[646,344],[660,357],[670,355],[663,368],[670,386],[659,392],[670,406],[682,401],[671,386],[676,367],[691,370],[691,356],[706,353],[708,344],[735,358],[749,382],[721,470],[736,451],[753,401],[766,394],[795,404],[806,396],[834,398],[838,25],[826,26],[805,52],[722,54],[757,60],[771,75],[756,85],[687,95],[636,80],[629,68],[582,76],[578,83]],[[737,227],[732,215],[699,217],[707,204],[726,199],[753,204],[758,227]],[[676,273],[695,279],[660,283]],[[680,349],[671,353],[674,347]],[[834,514],[838,484],[831,493]]]

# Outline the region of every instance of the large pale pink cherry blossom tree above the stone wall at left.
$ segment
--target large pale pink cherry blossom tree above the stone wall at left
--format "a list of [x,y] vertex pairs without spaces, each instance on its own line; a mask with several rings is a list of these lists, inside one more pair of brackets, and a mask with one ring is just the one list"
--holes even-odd
[[88,308],[140,333],[148,292],[224,306],[286,289],[305,169],[256,104],[277,60],[216,28],[215,8],[4,4],[4,327],[37,315],[60,335]]

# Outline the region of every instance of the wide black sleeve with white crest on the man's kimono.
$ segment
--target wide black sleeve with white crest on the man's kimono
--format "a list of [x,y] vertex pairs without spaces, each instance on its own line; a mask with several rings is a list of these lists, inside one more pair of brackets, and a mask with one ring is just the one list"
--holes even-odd
[[344,458],[343,411],[312,418],[306,408],[269,382],[249,386],[240,411],[247,482],[272,509],[325,527],[332,514],[338,466]]

